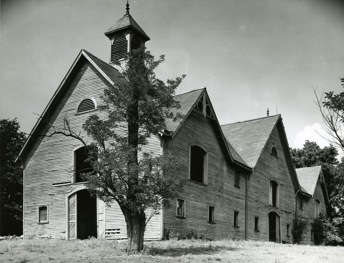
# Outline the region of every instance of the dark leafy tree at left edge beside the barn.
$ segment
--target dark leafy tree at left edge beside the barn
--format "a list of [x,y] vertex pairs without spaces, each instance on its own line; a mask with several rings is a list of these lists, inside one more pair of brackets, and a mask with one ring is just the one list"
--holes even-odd
[[25,142],[17,119],[0,120],[0,235],[23,232],[23,169],[14,162]]

